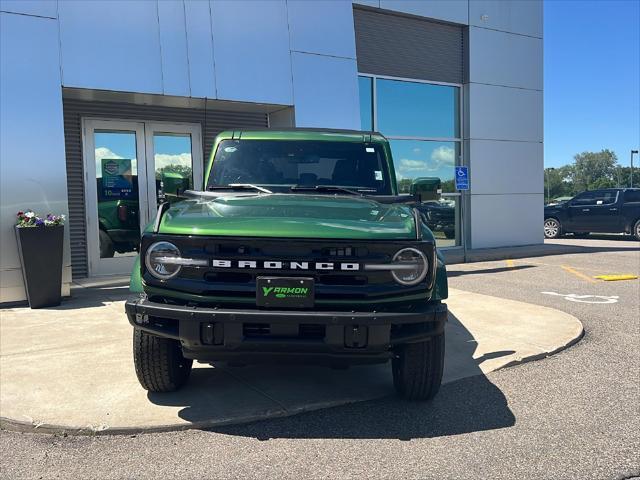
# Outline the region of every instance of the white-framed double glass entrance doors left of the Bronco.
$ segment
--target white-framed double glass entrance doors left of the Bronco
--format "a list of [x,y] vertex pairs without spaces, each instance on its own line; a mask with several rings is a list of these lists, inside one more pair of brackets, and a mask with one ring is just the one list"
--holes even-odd
[[129,274],[158,204],[202,185],[199,125],[83,122],[89,275]]

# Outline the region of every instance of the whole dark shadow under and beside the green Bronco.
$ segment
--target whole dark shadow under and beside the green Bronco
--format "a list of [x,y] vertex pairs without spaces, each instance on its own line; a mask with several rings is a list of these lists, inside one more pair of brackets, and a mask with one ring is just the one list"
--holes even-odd
[[[514,425],[507,399],[480,369],[491,359],[510,355],[512,350],[477,352],[478,343],[464,325],[450,313],[446,330],[444,385],[430,402],[410,402],[393,392],[390,364],[352,367],[347,371],[321,367],[247,366],[243,368],[199,368],[192,374],[184,393],[149,394],[151,402],[182,407],[178,416],[207,431],[269,438],[428,438],[458,435]],[[474,358],[475,355],[475,358]],[[240,421],[272,418],[236,426],[214,424],[216,402],[213,377],[222,380],[223,370],[245,389],[272,401],[272,414],[262,402],[238,396],[246,405],[235,405]],[[228,394],[228,389],[223,388]],[[232,400],[233,396],[227,397]],[[344,403],[345,405],[336,406]],[[246,407],[246,408],[243,408]],[[298,415],[294,415],[298,414]],[[292,416],[293,415],[293,416]],[[233,421],[233,419],[226,419]],[[239,422],[240,422],[239,421]],[[238,422],[238,423],[239,423]],[[221,423],[221,422],[218,422]]]

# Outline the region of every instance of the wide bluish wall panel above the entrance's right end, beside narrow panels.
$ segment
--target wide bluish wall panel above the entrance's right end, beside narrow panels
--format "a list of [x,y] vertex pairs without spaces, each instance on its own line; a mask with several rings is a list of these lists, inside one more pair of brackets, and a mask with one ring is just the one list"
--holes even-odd
[[284,0],[216,0],[210,5],[218,98],[291,105]]

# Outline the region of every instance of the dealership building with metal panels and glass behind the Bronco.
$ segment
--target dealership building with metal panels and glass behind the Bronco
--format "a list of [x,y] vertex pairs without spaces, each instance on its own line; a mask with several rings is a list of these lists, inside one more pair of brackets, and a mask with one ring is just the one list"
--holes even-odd
[[[130,237],[172,188],[202,185],[222,130],[379,131],[401,185],[441,178],[434,230],[450,259],[542,243],[541,0],[0,0],[0,11],[0,303],[26,298],[18,210],[67,216],[64,294],[126,274]],[[456,189],[456,166],[469,190]],[[113,181],[123,171],[128,189]]]

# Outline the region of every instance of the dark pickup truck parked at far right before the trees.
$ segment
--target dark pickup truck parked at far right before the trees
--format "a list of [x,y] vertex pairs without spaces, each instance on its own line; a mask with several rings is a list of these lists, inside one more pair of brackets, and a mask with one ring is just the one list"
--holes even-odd
[[640,240],[640,188],[589,190],[544,209],[544,236],[627,233]]

